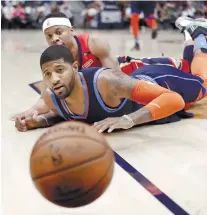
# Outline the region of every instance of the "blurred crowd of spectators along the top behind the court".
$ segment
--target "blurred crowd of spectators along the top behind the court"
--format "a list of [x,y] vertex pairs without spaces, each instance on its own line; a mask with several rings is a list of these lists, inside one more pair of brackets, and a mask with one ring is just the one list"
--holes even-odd
[[[161,28],[175,28],[179,16],[207,17],[206,1],[157,1],[157,20]],[[108,10],[108,12],[106,12]],[[110,10],[116,10],[110,15]],[[117,17],[120,11],[121,20]],[[120,22],[118,28],[129,28],[131,11],[129,1],[1,1],[2,28],[41,28],[46,15],[61,11],[73,26],[99,28],[101,15],[106,22]],[[106,13],[107,16],[106,17]],[[115,19],[116,18],[116,19]],[[117,21],[118,20],[118,21]],[[140,21],[142,23],[142,20]],[[103,24],[103,23],[102,23]],[[115,25],[109,23],[109,26]]]

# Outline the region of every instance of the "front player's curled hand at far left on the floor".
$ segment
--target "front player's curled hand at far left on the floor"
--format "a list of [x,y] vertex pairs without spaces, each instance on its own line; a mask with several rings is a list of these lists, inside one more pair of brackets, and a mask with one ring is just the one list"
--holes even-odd
[[35,128],[44,128],[47,127],[47,123],[41,116],[36,117],[17,117],[15,120],[15,127],[21,132]]

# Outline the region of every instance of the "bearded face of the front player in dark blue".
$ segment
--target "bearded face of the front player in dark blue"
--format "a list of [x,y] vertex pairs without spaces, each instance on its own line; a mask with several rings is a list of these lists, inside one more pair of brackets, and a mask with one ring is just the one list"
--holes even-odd
[[77,71],[77,61],[70,65],[63,59],[59,59],[42,65],[42,74],[46,85],[60,99],[67,98],[72,93]]

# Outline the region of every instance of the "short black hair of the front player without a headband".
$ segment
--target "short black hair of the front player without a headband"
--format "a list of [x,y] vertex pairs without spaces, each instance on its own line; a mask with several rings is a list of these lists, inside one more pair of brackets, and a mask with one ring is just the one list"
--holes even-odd
[[72,53],[64,45],[52,45],[45,49],[40,57],[40,67],[46,62],[63,59],[64,62],[72,64],[74,58]]

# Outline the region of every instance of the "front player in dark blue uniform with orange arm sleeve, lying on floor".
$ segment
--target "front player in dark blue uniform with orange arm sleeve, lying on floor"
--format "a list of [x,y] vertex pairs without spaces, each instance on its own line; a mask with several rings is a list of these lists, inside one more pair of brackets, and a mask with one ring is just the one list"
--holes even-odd
[[[207,72],[207,54],[203,53],[207,44],[203,38],[203,34],[195,38],[192,73],[199,75]],[[57,116],[94,123],[99,132],[149,122],[173,122],[192,116],[184,109],[206,96],[202,78],[166,65],[142,67],[131,77],[108,68],[78,72],[72,53],[61,45],[47,48],[41,55],[40,66],[48,86],[44,101],[51,112],[25,119],[24,123],[17,118],[19,131],[51,126],[57,122]]]

